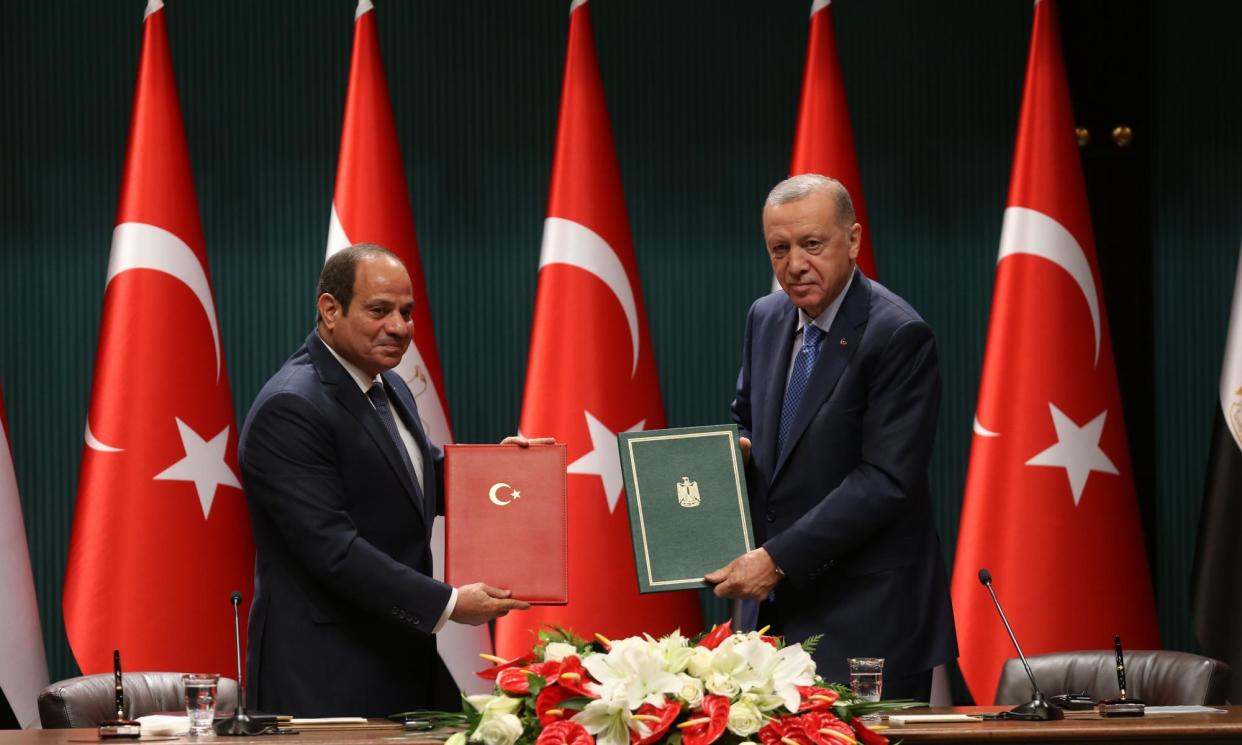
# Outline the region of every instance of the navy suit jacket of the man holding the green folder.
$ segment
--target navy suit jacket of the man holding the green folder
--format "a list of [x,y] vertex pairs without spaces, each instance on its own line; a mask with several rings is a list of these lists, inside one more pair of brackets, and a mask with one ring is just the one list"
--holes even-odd
[[773,608],[781,631],[792,642],[823,634],[815,659],[830,680],[847,679],[846,657],[883,657],[894,677],[954,659],[928,489],[940,401],[932,329],[854,269],[777,452],[796,329],[784,292],[751,305],[733,402],[753,443],[755,534],[785,572]]

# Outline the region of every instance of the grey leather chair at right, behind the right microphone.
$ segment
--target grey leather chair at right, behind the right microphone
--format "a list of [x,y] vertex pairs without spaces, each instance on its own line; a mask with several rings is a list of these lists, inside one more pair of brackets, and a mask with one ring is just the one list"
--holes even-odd
[[[1027,657],[1046,697],[1086,693],[1095,700],[1118,698],[1117,654],[1112,649],[1057,652]],[[1223,704],[1232,669],[1218,659],[1187,652],[1126,651],[1125,694],[1149,707]],[[1001,669],[997,705],[1031,700],[1031,679],[1013,657]]]

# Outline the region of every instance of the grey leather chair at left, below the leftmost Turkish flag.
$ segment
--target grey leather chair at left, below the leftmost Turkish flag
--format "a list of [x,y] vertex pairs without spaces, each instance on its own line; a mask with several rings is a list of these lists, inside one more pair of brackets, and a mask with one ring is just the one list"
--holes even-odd
[[[123,673],[125,716],[137,719],[158,711],[185,711],[181,673]],[[99,726],[117,716],[117,687],[112,673],[83,675],[52,683],[39,694],[43,729]],[[216,711],[237,707],[237,682],[220,678]]]

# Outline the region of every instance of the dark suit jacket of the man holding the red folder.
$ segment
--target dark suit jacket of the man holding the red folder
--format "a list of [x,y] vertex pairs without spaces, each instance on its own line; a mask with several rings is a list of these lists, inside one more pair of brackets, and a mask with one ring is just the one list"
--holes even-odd
[[386,715],[431,700],[431,631],[452,592],[431,577],[442,456],[405,382],[383,379],[422,449],[421,484],[317,332],[242,427],[256,546],[248,703],[263,711]]

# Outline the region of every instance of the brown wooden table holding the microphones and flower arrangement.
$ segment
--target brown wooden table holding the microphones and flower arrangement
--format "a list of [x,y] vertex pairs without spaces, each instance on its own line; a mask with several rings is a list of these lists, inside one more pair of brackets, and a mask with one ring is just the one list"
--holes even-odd
[[[945,724],[892,725],[881,730],[892,741],[902,743],[1093,743],[1141,745],[1145,743],[1237,743],[1242,745],[1242,707],[1220,707],[1225,714],[1149,714],[1141,718],[1105,719],[1094,713],[1072,713],[1061,721],[969,721]],[[951,709],[910,709],[908,714],[984,714],[1000,707],[958,707]],[[144,738],[108,740],[125,743],[180,743],[197,745],[441,745],[425,734],[405,733],[396,725],[369,729],[309,729],[291,736],[266,738]],[[0,745],[65,745],[99,743],[93,729],[7,730],[0,731]]]

